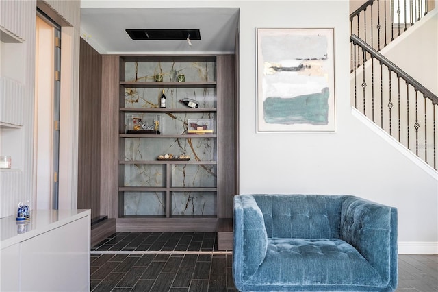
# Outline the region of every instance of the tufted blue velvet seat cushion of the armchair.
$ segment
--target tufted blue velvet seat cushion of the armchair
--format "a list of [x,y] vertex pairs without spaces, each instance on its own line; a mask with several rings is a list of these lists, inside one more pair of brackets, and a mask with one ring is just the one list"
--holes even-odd
[[284,238],[268,239],[266,258],[246,284],[260,282],[266,291],[279,290],[282,285],[314,289],[318,285],[378,287],[386,284],[376,269],[341,239]]

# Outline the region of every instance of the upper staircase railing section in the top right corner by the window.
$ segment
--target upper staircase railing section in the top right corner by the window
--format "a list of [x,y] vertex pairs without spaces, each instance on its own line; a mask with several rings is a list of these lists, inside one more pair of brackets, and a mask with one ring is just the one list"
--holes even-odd
[[432,9],[429,0],[368,0],[350,14],[350,32],[380,51]]

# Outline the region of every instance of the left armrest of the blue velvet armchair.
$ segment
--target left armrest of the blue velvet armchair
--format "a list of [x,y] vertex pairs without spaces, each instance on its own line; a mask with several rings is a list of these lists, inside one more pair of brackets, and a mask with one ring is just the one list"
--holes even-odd
[[240,287],[263,262],[268,236],[263,214],[252,195],[236,195],[233,204],[233,275]]

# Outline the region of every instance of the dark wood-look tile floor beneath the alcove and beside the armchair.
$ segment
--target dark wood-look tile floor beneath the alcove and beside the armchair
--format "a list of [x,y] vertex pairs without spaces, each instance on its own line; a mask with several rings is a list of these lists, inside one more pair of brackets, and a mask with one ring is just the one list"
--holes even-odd
[[[91,291],[237,291],[216,233],[116,233],[92,247]],[[397,291],[438,292],[438,255],[400,255]]]

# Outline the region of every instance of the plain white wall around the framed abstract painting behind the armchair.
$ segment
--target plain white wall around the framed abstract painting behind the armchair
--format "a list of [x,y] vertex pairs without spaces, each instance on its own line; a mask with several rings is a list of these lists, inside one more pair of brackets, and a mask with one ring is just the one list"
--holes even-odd
[[[105,5],[102,2],[95,5]],[[112,1],[111,5],[240,8],[240,193],[342,193],[396,206],[399,241],[413,243],[418,253],[424,252],[423,245],[438,252],[437,175],[352,114],[348,1]],[[337,132],[256,134],[257,27],[335,27]]]

